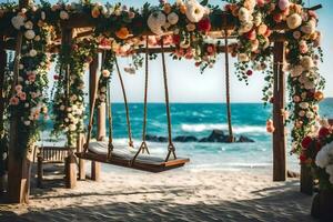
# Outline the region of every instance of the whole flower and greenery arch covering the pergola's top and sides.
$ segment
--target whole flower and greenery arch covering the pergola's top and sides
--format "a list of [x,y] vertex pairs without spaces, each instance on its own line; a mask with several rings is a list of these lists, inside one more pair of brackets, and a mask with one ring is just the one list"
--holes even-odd
[[[12,117],[19,120],[19,133],[24,138],[19,150],[24,153],[28,141],[36,141],[40,115],[48,117],[48,101],[42,92],[48,83],[50,52],[60,52],[53,98],[54,132],[65,130],[74,134],[83,130],[82,63],[91,62],[93,54],[103,50],[109,52],[104,73],[112,72],[114,56],[133,58],[134,65],[128,69],[133,72],[142,64],[140,51],[147,38],[157,51],[163,38],[173,59],[194,60],[202,72],[213,67],[219,53],[228,48],[238,58],[235,67],[240,80],[246,82],[252,70],[263,72],[265,102],[274,102],[271,68],[278,65],[280,71],[290,73],[291,115],[287,119],[287,110],[281,114],[293,122],[292,152],[302,153],[302,139],[315,131],[317,103],[324,97],[324,80],[317,69],[322,50],[315,8],[306,9],[300,0],[226,1],[224,8],[211,6],[208,1],[176,0],[174,3],[160,1],[159,6],[145,3],[141,9],[90,0],[56,4],[41,1],[41,4],[24,7],[1,3],[0,30],[6,30],[1,36],[4,36],[6,46],[9,49],[16,46],[17,51],[13,72],[18,78],[12,82],[9,101]],[[65,30],[72,31],[70,41],[61,42],[61,33]],[[225,36],[236,42],[223,46],[221,38]],[[12,40],[16,42],[11,43]],[[285,62],[274,64],[273,41],[283,42]],[[68,90],[75,95],[72,98],[63,95],[63,73],[68,69],[71,78]],[[101,101],[109,79],[105,74],[100,81]],[[73,110],[80,112],[73,113]],[[271,120],[268,130],[274,131]]]

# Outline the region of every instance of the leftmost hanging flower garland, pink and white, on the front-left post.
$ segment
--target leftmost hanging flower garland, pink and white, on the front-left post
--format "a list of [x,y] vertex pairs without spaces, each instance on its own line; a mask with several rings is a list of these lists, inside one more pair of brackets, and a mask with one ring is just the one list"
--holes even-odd
[[[33,10],[33,9],[32,9]],[[19,117],[18,122],[18,154],[24,154],[27,144],[38,140],[40,117],[48,118],[47,73],[50,70],[51,58],[47,54],[44,46],[50,39],[50,27],[39,22],[31,11],[21,9],[11,19],[12,26],[23,33],[21,58],[19,63],[18,82],[12,89],[10,98],[11,117]]]

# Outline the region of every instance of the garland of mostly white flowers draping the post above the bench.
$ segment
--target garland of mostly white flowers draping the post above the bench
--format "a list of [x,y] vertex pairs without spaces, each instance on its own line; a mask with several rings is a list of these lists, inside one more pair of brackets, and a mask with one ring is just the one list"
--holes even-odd
[[[84,131],[84,70],[97,53],[97,42],[88,39],[73,40],[63,46],[58,58],[54,75],[53,134],[68,133],[68,143],[75,141],[78,133]],[[84,65],[82,65],[84,64]],[[68,69],[68,70],[67,70]],[[67,72],[68,77],[67,77]]]

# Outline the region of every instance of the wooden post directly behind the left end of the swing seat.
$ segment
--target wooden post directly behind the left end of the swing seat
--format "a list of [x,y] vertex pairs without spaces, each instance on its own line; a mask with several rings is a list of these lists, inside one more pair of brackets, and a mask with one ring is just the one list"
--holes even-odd
[[[89,93],[90,93],[90,105],[92,104],[93,93],[95,88],[99,85],[98,82],[98,70],[99,70],[99,54],[94,54],[92,62],[89,67]],[[98,140],[103,140],[105,137],[105,105],[102,104],[98,108]],[[91,161],[91,180],[100,180],[101,163]]]

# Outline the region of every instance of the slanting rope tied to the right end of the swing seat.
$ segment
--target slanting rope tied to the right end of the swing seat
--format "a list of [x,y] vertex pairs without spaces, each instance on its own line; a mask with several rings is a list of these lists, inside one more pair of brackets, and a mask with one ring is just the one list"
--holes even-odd
[[170,104],[169,104],[169,89],[168,89],[168,78],[167,78],[167,64],[165,64],[165,54],[164,54],[164,37],[161,39],[161,50],[162,50],[162,65],[163,65],[163,80],[164,80],[164,93],[165,93],[165,108],[167,108],[167,118],[168,118],[168,155],[165,162],[169,161],[172,153],[173,158],[176,159],[175,148],[172,143],[172,131],[171,131],[171,114],[170,114]]

